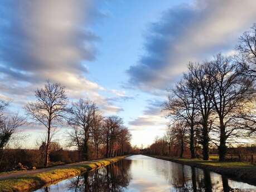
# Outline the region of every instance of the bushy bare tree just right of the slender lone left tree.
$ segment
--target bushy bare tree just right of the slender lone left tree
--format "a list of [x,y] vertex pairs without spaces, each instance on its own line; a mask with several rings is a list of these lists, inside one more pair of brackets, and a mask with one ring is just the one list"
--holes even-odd
[[83,160],[89,159],[89,139],[92,127],[95,124],[95,116],[98,113],[98,107],[90,100],[80,99],[73,102],[70,109],[68,123],[74,130],[71,139],[75,141],[80,149]]

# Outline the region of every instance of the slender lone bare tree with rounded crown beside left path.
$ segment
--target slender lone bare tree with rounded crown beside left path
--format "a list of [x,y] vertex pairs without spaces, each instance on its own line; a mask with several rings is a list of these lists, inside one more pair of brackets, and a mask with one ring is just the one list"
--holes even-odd
[[27,115],[44,125],[47,129],[47,142],[45,151],[45,167],[49,164],[49,144],[51,129],[60,125],[67,111],[67,96],[65,87],[59,83],[47,81],[44,88],[35,91],[36,101],[25,106]]

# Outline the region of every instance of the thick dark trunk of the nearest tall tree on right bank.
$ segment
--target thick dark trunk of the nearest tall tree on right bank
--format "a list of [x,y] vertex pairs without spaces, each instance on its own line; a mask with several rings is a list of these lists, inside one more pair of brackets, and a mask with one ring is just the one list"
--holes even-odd
[[225,161],[226,156],[226,132],[223,119],[220,119],[220,145],[219,145],[219,161]]

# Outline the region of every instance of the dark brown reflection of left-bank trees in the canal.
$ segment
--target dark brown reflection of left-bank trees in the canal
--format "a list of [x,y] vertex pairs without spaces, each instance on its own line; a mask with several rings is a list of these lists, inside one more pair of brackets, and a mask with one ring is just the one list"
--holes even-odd
[[74,192],[122,192],[129,185],[130,160],[119,161],[105,168],[79,175],[70,180],[69,191]]

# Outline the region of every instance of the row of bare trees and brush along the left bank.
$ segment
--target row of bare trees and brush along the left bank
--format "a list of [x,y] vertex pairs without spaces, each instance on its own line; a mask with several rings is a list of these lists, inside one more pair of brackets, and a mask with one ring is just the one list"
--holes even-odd
[[[45,127],[47,135],[45,140],[40,143],[38,150],[23,150],[26,152],[26,156],[31,156],[31,161],[38,161],[39,158],[40,162],[47,167],[49,160],[61,161],[61,158],[64,158],[64,161],[72,162],[113,157],[131,152],[131,134],[124,126],[122,118],[119,116],[104,117],[95,102],[89,99],[69,102],[65,87],[60,83],[50,83],[49,81],[44,87],[35,91],[35,97],[36,101],[28,102],[24,109],[30,122]],[[9,102],[0,100],[1,170],[6,167],[8,161],[12,161],[9,158],[13,158],[14,152],[18,155],[21,151],[7,150],[6,147],[9,141],[21,139],[17,132],[18,128],[27,124],[27,120],[22,116],[7,115],[4,110],[8,106]],[[66,140],[68,147],[73,147],[73,149],[75,147],[77,151],[77,155],[73,153],[74,157],[70,156],[72,152],[63,150],[52,140],[57,134],[56,127],[63,126],[69,127]],[[19,158],[22,159],[22,157],[13,159]]]

